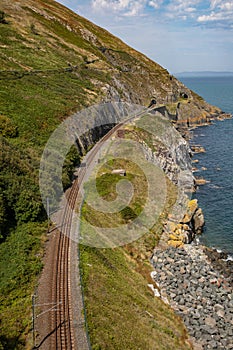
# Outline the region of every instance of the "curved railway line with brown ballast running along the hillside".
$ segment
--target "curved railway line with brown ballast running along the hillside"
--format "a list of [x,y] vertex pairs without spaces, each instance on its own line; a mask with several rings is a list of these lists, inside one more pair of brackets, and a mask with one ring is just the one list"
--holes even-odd
[[[155,108],[153,108],[155,109]],[[50,338],[49,349],[54,350],[86,350],[90,349],[87,337],[83,342],[77,341],[78,337],[82,336],[78,334],[80,327],[83,327],[85,333],[85,323],[80,323],[78,326],[74,325],[73,315],[73,303],[75,302],[72,298],[72,287],[71,287],[71,250],[72,244],[75,244],[76,255],[78,255],[77,242],[72,241],[71,237],[71,226],[73,219],[73,210],[77,201],[78,193],[86,169],[94,160],[97,152],[100,150],[102,144],[111,137],[111,135],[119,129],[126,122],[131,121],[141,115],[149,112],[151,109],[144,110],[133,117],[128,118],[124,123],[119,123],[114,126],[105,136],[103,136],[92,148],[92,150],[85,157],[86,167],[80,167],[78,170],[78,177],[74,180],[72,187],[67,191],[67,202],[61,212],[61,225],[62,230],[55,230],[55,247],[53,247],[53,267],[52,267],[52,283],[51,298],[52,304],[57,305],[54,312],[50,313],[48,318],[49,321],[49,335],[45,337]],[[73,256],[72,256],[73,259]],[[78,271],[79,272],[79,271]],[[73,277],[72,277],[73,278]],[[79,279],[80,277],[76,276]],[[78,291],[81,294],[81,289]],[[76,293],[77,296],[77,293]],[[82,295],[79,295],[82,299]],[[72,300],[73,299],[73,300]],[[76,327],[78,327],[76,329]],[[76,334],[75,334],[76,333]],[[84,338],[84,337],[83,337]],[[83,346],[79,344],[84,344]],[[45,348],[38,346],[37,348]],[[48,349],[48,345],[46,345]]]

